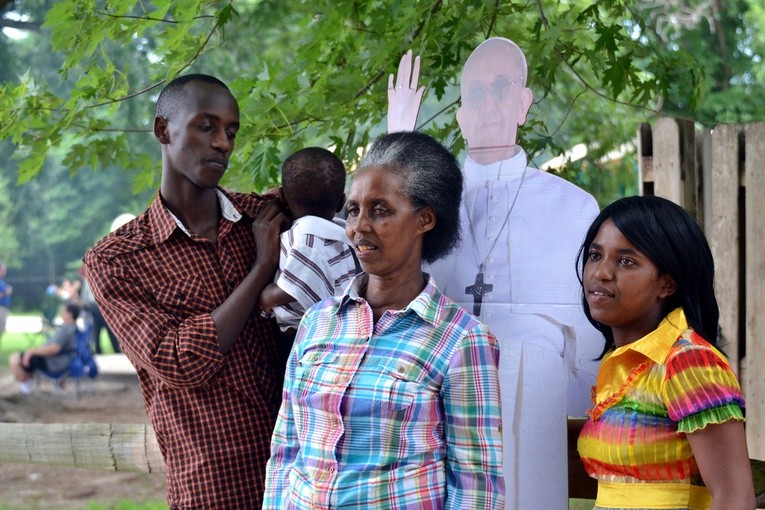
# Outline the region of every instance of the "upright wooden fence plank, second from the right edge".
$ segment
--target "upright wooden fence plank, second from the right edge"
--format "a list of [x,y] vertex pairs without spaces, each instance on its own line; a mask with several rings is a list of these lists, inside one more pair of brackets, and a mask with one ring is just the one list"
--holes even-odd
[[705,234],[715,260],[715,293],[720,305],[720,346],[736,373],[739,373],[739,213],[738,213],[738,133],[732,125],[717,126],[702,140],[708,155],[705,171],[704,202],[707,210]]

